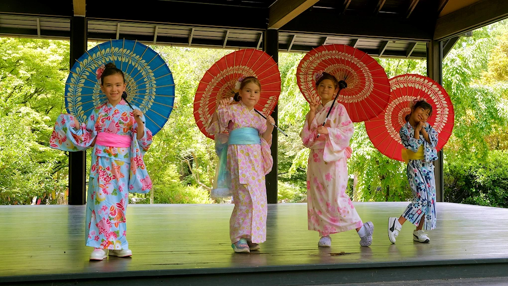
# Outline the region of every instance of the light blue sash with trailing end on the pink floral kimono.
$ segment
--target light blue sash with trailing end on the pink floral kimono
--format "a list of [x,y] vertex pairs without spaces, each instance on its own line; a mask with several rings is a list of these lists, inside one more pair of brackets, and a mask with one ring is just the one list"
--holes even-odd
[[234,129],[230,131],[227,142],[220,143],[219,140],[215,140],[215,152],[219,162],[215,172],[215,184],[210,193],[212,198],[227,198],[233,195],[230,190],[231,175],[226,166],[229,145],[261,145],[258,129],[252,127]]

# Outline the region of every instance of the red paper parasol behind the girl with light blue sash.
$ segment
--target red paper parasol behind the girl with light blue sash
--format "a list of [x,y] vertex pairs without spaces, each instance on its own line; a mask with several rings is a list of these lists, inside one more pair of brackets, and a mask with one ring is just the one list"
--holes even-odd
[[245,49],[225,55],[214,63],[201,79],[194,98],[194,118],[199,130],[206,132],[217,100],[235,95],[235,84],[241,77],[256,77],[261,83],[261,97],[254,106],[264,116],[273,112],[280,94],[280,72],[271,56],[256,49]]

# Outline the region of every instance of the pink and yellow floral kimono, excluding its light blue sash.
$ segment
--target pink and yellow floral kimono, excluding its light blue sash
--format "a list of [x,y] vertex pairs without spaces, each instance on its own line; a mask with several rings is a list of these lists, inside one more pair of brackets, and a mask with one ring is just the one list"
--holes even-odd
[[265,175],[273,166],[270,145],[263,138],[266,119],[248,110],[243,102],[219,106],[218,121],[209,124],[207,132],[217,135],[223,130],[243,127],[256,128],[261,145],[229,145],[227,168],[231,175],[230,190],[235,207],[230,219],[231,243],[250,238],[253,243],[266,240],[267,199]]

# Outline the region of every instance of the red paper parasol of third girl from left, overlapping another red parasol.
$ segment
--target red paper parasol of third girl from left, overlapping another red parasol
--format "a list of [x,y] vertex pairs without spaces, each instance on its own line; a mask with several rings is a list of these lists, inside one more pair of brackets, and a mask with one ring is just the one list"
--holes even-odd
[[321,99],[317,95],[314,74],[320,71],[344,81],[337,101],[342,103],[353,122],[379,115],[390,99],[390,84],[385,69],[371,56],[347,45],[324,45],[308,52],[297,69],[297,82],[305,99]]

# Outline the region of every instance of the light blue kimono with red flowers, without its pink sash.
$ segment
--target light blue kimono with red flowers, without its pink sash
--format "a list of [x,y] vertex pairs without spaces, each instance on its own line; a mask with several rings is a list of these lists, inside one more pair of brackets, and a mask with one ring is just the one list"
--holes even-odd
[[[146,122],[144,118],[143,121]],[[74,124],[71,116],[58,117],[50,137],[52,148],[86,150],[91,147],[98,132],[133,138],[131,148],[97,144],[93,147],[86,200],[86,245],[108,249],[129,248],[125,237],[125,211],[129,196],[126,190],[147,193],[152,187],[143,162],[143,156],[151,145],[152,134],[145,126],[144,136],[136,138],[137,123],[130,106],[123,100],[115,106],[108,102],[97,106],[87,123],[78,126],[78,130],[72,128],[71,124]]]

